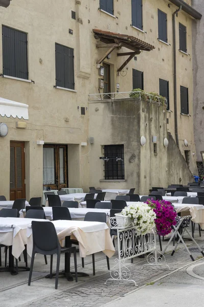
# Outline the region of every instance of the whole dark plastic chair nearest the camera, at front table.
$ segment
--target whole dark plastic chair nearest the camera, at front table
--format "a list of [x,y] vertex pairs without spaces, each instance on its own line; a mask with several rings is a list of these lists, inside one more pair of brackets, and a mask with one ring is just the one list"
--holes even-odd
[[29,274],[28,286],[31,284],[31,278],[33,273],[33,265],[35,254],[40,253],[42,255],[51,255],[50,257],[50,278],[52,278],[53,271],[53,255],[57,254],[57,269],[55,289],[58,288],[58,277],[60,269],[60,254],[73,252],[74,268],[75,268],[75,281],[78,281],[77,276],[77,253],[75,247],[61,247],[57,232],[53,223],[50,222],[37,222],[32,221],[33,230],[33,252],[31,257],[31,268]]

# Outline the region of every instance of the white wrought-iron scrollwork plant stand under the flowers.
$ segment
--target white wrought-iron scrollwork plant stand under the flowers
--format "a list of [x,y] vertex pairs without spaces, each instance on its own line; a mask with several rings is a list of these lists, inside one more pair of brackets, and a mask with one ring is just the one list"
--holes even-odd
[[[126,219],[125,224],[123,224],[124,218]],[[110,270],[111,278],[105,283],[108,280],[131,281],[138,286],[136,281],[131,279],[131,271],[124,265],[125,260],[149,253],[148,263],[143,267],[166,266],[168,270],[170,268],[165,264],[164,255],[157,251],[155,229],[151,233],[138,235],[132,221],[127,219],[125,216],[109,218],[113,235],[117,235],[118,258],[115,259],[116,265]]]

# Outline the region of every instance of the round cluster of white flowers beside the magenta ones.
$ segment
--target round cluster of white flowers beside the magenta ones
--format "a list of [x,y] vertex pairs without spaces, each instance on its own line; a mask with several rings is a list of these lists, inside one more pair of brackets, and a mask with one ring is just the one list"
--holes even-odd
[[121,211],[122,215],[130,217],[138,235],[151,232],[155,226],[156,213],[145,203],[134,203]]

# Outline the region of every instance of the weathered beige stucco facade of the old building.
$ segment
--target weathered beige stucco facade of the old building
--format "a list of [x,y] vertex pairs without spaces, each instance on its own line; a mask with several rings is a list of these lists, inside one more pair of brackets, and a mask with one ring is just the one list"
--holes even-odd
[[[190,1],[186,3],[191,5]],[[54,183],[50,183],[52,187],[60,188],[58,180],[61,180],[61,186],[65,184],[69,187],[82,187],[85,191],[89,186],[96,185],[101,188],[136,187],[138,192],[139,190],[145,192],[152,185],[179,183],[180,178],[181,183],[186,183],[191,179],[192,174],[197,173],[193,137],[192,16],[181,10],[175,17],[179,147],[184,157],[185,150],[189,150],[191,172],[182,155],[177,151],[176,145],[172,145],[174,150],[171,151],[171,158],[175,155],[175,165],[182,165],[182,168],[180,167],[177,173],[172,175],[170,168],[174,161],[171,160],[169,165],[171,158],[163,146],[163,139],[168,137],[167,133],[175,139],[172,14],[178,7],[168,0],[143,0],[143,30],[141,31],[131,26],[131,1],[114,0],[113,5],[113,15],[98,9],[99,0],[60,0],[58,2],[13,0],[7,9],[0,7],[3,26],[27,33],[28,80],[35,82],[11,79],[6,75],[0,77],[1,97],[29,105],[29,120],[26,121],[26,128],[16,127],[16,122],[23,122],[23,119],[0,116],[0,121],[5,122],[9,128],[8,135],[0,138],[0,194],[6,195],[7,199],[10,197],[11,141],[24,142],[24,182],[27,200],[33,196],[40,196],[43,180],[46,181],[43,179],[43,145],[37,144],[39,140],[49,144],[50,148],[65,145],[64,160],[60,156],[60,146],[52,149],[55,151],[53,152],[56,164],[53,170]],[[158,40],[158,9],[167,16],[167,42]],[[72,12],[75,12],[75,19]],[[179,51],[179,23],[185,25],[187,29],[186,53]],[[93,98],[90,99],[89,94],[98,94],[99,91],[103,93],[103,89],[99,89],[98,85],[98,79],[101,76],[96,63],[108,50],[96,48],[96,44],[103,45],[103,42],[94,37],[93,29],[134,36],[155,47],[149,52],[141,51],[125,65],[120,73],[117,70],[127,56],[118,57],[117,53],[130,52],[130,50],[124,47],[115,49],[111,57],[106,58],[103,63],[109,65],[111,93],[133,90],[133,69],[143,72],[144,91],[147,93],[159,93],[159,79],[167,80],[169,111],[163,106],[154,104],[153,107],[145,101],[137,101],[131,108],[130,105],[134,102],[131,100],[130,105],[127,105],[129,100],[124,99],[124,110],[127,110],[124,111],[127,112],[125,118],[121,101],[118,102],[118,111],[117,102],[114,102],[114,107],[112,100],[106,100],[106,102],[99,100],[96,103]],[[2,35],[0,35],[0,73],[4,74],[2,43]],[[55,87],[56,43],[73,49],[74,90]],[[180,85],[188,88],[190,116],[181,114]],[[82,110],[81,107],[85,109]],[[96,108],[98,108],[97,111]],[[146,117],[143,109],[146,109]],[[85,115],[82,115],[84,112]],[[110,123],[110,116],[115,116],[114,112],[118,112],[119,119],[122,118],[124,129],[121,127],[119,129],[120,122],[115,122],[115,126],[113,122]],[[135,114],[133,121],[130,121],[132,125],[129,122],[130,112]],[[137,112],[139,115],[136,114]],[[153,120],[151,120],[152,117]],[[138,121],[135,122],[137,118]],[[151,130],[149,121],[152,121],[155,130]],[[149,125],[148,133],[145,130],[146,124]],[[139,148],[140,137],[145,134],[148,135],[146,137],[148,146]],[[158,155],[152,156],[153,143],[150,139],[154,135],[157,136]],[[90,137],[94,138],[93,144],[89,142]],[[130,142],[127,142],[129,137]],[[172,144],[173,139],[169,140],[169,143]],[[188,141],[188,146],[184,144],[185,139]],[[104,145],[114,144],[124,144],[125,178],[104,181],[103,161],[99,160],[99,157],[103,156],[101,148]],[[129,158],[133,153],[136,158],[134,163],[130,163]],[[160,169],[161,163],[163,171]],[[150,172],[151,176],[149,176]],[[57,178],[57,174],[61,174],[63,179]],[[45,185],[49,186],[48,181]]]

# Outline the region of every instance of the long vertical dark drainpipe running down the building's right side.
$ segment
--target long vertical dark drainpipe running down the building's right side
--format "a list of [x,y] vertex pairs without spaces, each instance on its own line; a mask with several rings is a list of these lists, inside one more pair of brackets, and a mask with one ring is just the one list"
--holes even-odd
[[179,147],[178,123],[177,123],[177,92],[176,92],[176,43],[175,43],[175,15],[180,12],[182,6],[173,12],[173,92],[174,92],[174,120],[175,120],[175,140]]

